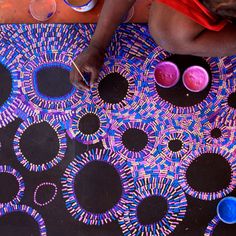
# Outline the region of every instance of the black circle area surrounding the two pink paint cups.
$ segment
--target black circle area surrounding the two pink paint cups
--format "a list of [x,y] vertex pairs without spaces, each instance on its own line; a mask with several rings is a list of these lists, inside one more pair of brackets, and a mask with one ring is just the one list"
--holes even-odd
[[[186,55],[172,55],[166,59],[166,61],[171,61],[175,63],[180,70],[180,80],[172,88],[161,88],[157,85],[157,92],[159,96],[165,101],[179,107],[189,107],[199,104],[206,99],[211,88],[211,69],[208,63],[201,57],[196,56],[186,56]],[[182,82],[182,76],[184,71],[190,66],[201,66],[207,70],[210,78],[210,83],[206,89],[199,93],[190,92],[185,88]]]

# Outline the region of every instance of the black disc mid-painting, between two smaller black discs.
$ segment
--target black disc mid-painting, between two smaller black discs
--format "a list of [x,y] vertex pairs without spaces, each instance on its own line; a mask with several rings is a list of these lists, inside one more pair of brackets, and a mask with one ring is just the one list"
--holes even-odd
[[148,135],[140,129],[127,129],[122,135],[122,143],[132,152],[142,151],[148,144]]

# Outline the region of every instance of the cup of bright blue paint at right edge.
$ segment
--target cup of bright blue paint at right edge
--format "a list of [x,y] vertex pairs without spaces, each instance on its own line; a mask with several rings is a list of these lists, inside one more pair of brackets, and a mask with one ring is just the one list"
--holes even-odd
[[236,223],[236,197],[225,197],[217,205],[217,215],[226,224]]

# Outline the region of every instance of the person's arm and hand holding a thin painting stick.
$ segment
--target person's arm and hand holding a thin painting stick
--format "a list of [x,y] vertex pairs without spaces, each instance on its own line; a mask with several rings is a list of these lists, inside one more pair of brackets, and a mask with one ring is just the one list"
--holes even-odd
[[[82,52],[75,63],[81,72],[91,74],[90,85],[98,78],[98,73],[104,61],[105,50],[111,38],[121,23],[123,17],[136,0],[105,0],[95,33],[89,47]],[[88,89],[75,69],[70,75],[71,82],[78,88]]]

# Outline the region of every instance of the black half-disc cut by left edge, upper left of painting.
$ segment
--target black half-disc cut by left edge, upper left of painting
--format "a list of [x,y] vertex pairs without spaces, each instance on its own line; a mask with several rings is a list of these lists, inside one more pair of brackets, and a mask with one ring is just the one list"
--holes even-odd
[[0,107],[7,101],[11,95],[12,78],[10,71],[0,64]]

